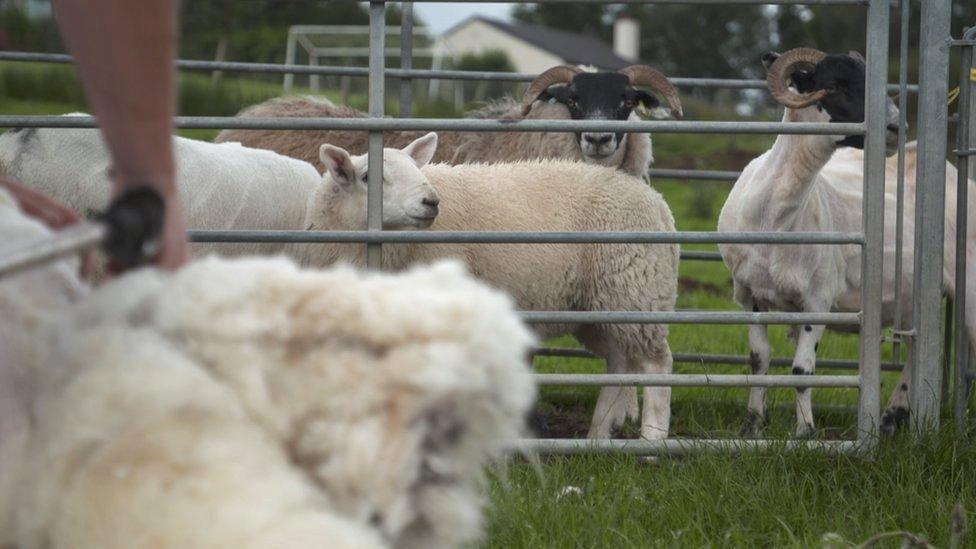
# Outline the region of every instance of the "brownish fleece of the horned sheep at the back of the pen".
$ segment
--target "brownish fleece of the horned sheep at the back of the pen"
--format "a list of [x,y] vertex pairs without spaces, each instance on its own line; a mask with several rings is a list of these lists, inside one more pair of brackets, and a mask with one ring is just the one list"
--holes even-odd
[[[468,113],[468,118],[498,120],[567,120],[569,111],[561,104],[537,101],[528,115],[523,116],[518,101],[506,98]],[[365,113],[344,105],[335,105],[322,97],[276,97],[241,111],[237,116],[295,117],[295,118],[363,118]],[[632,120],[640,120],[636,114]],[[385,132],[384,144],[401,148],[423,135],[422,132]],[[489,164],[519,160],[565,159],[583,161],[579,142],[571,132],[438,132],[440,146],[434,162]],[[247,147],[268,149],[279,154],[309,162],[320,169],[319,146],[331,143],[359,155],[366,154],[365,132],[315,130],[223,130],[215,142],[239,142]],[[597,163],[596,160],[591,160]],[[625,173],[643,177],[654,161],[651,138],[648,134],[625,134],[624,143],[599,165],[610,166]]]

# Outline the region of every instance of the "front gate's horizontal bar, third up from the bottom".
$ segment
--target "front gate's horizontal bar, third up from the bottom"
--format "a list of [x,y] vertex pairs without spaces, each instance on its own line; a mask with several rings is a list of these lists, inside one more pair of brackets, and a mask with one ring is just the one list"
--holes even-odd
[[529,324],[823,324],[856,326],[860,313],[738,311],[521,311]]

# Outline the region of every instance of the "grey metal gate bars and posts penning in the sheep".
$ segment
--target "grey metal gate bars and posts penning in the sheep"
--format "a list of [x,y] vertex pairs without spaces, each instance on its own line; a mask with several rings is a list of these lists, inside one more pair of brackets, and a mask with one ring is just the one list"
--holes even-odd
[[[438,2],[443,0],[426,0]],[[515,0],[508,0],[515,3]],[[547,0],[543,0],[547,1]],[[548,0],[561,2],[567,0]],[[629,454],[681,454],[701,451],[743,451],[765,448],[771,445],[789,448],[815,448],[831,452],[866,452],[873,449],[878,439],[881,410],[880,373],[882,369],[898,369],[898,347],[910,343],[910,360],[916,365],[910,403],[916,426],[932,426],[938,423],[943,383],[943,369],[938,357],[943,350],[941,327],[943,221],[945,192],[941,184],[918,185],[916,197],[915,231],[915,293],[910,312],[896,312],[894,330],[894,363],[881,363],[882,337],[882,268],[883,268],[883,221],[885,180],[885,115],[886,92],[900,93],[901,130],[899,132],[899,170],[897,206],[899,227],[902,219],[902,189],[904,180],[904,146],[906,129],[907,93],[919,94],[918,180],[940,182],[945,179],[946,135],[949,122],[946,106],[948,91],[947,74],[949,45],[964,51],[963,84],[960,95],[958,118],[958,150],[961,160],[973,158],[976,151],[970,144],[972,82],[976,73],[970,74],[973,51],[976,49],[976,32],[970,29],[961,40],[949,40],[950,0],[925,0],[922,2],[920,28],[920,75],[918,87],[906,82],[908,62],[908,29],[910,8],[908,0],[901,0],[901,51],[900,81],[888,86],[888,42],[892,0],[576,0],[580,3],[615,4],[695,4],[709,9],[707,4],[780,4],[780,5],[855,5],[867,10],[866,59],[867,97],[866,120],[863,123],[820,124],[783,122],[710,122],[710,121],[573,121],[573,120],[524,120],[501,122],[476,119],[412,119],[411,82],[415,79],[442,80],[491,80],[531,81],[534,74],[497,73],[456,70],[418,70],[412,68],[412,3],[402,2],[404,21],[401,26],[401,67],[384,67],[385,8],[383,1],[369,3],[370,55],[369,68],[337,66],[303,66],[261,63],[233,63],[209,61],[177,61],[176,66],[185,70],[276,73],[282,75],[308,74],[369,78],[369,117],[363,119],[329,118],[232,118],[232,117],[178,117],[177,127],[206,129],[268,129],[268,130],[344,130],[369,132],[368,206],[366,231],[193,231],[194,242],[319,242],[363,243],[367,246],[367,260],[371,268],[381,268],[381,249],[385,243],[769,243],[769,244],[829,244],[857,245],[862,250],[861,289],[862,310],[857,313],[783,313],[783,312],[719,312],[719,311],[525,311],[523,318],[529,323],[664,323],[664,324],[824,324],[856,325],[860,328],[860,359],[857,362],[843,360],[818,360],[821,368],[848,368],[856,370],[851,375],[799,376],[793,375],[708,375],[708,374],[548,374],[537,375],[541,385],[626,385],[626,386],[673,386],[673,387],[824,387],[850,388],[859,392],[857,407],[857,436],[854,440],[770,441],[740,439],[666,439],[666,440],[575,440],[546,439],[522,440],[516,446],[523,450],[540,453],[568,454],[579,452],[624,452]],[[192,9],[192,6],[190,6]],[[796,44],[795,46],[801,46]],[[0,52],[0,60],[44,61],[69,63],[65,55]],[[386,79],[400,81],[400,118],[385,118],[384,99]],[[678,87],[718,87],[733,89],[765,89],[763,80],[726,80],[710,78],[671,78]],[[970,85],[966,85],[969,83]],[[91,117],[61,116],[0,116],[0,127],[95,127]],[[864,135],[864,204],[863,230],[858,233],[720,233],[720,232],[439,232],[439,231],[384,231],[382,229],[382,174],[384,131],[612,131],[694,134],[822,134]],[[968,170],[965,162],[959,164],[959,181],[966,181]],[[708,170],[652,169],[651,177],[734,181],[736,172]],[[966,185],[959,185],[959,203],[966,204]],[[959,239],[957,246],[963,252],[957,255],[957,281],[965,281],[965,227],[966,208],[959,210]],[[94,224],[61,231],[57,238],[45,243],[29,243],[19,253],[0,258],[0,276],[4,272],[24,268],[39,261],[70,253],[79,247],[91,246],[104,237],[104,229]],[[901,279],[902,231],[898,229],[896,280]],[[682,252],[683,260],[716,260],[718,254],[709,252]],[[874,283],[876,282],[876,283]],[[964,282],[957,288],[965,288]],[[967,335],[963,316],[965,292],[959,292],[955,303],[956,330],[953,339],[958,350],[967,349]],[[910,318],[909,318],[910,315]],[[948,316],[948,315],[947,315]],[[951,318],[947,318],[951,320]],[[950,333],[948,324],[947,334]],[[951,343],[947,337],[946,343]],[[948,354],[948,345],[946,346]],[[592,356],[576,349],[539,349],[537,354],[554,356]],[[675,353],[675,362],[707,362],[720,364],[747,364],[746,357],[724,355],[687,355]],[[955,375],[955,413],[960,428],[965,423],[966,397],[972,373],[967,369],[969,354],[957,352]],[[790,359],[772,361],[773,366],[789,365]]]

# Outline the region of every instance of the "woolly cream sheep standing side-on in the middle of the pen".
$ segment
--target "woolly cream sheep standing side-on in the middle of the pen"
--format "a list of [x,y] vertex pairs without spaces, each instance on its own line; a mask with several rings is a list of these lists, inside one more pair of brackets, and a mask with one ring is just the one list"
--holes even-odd
[[[436,141],[415,153],[434,156]],[[336,230],[361,219],[365,204],[347,208],[347,189],[361,192],[367,155],[350,156],[333,145],[321,147],[326,166],[316,194],[317,230]],[[385,170],[415,170],[436,189],[440,209],[430,226],[441,231],[674,231],[671,210],[659,193],[622,172],[565,160],[511,164],[426,164],[418,169],[400,151],[384,154]],[[392,169],[391,166],[396,166]],[[350,244],[305,245],[303,264],[345,261],[364,265],[365,247]],[[387,244],[384,266],[400,269],[439,258],[460,258],[471,272],[509,292],[522,309],[649,310],[674,309],[678,246],[674,244]],[[539,325],[552,337],[573,333],[584,346],[607,359],[611,372],[669,373],[671,351],[663,325],[595,324],[576,327]],[[641,436],[667,436],[670,388],[644,390]],[[633,387],[604,388],[589,436],[607,438],[614,427],[638,416]]]

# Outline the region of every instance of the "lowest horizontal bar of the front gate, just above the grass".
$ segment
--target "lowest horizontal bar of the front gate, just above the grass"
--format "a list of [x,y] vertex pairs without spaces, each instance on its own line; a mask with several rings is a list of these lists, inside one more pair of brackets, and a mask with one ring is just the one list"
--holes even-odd
[[743,439],[522,439],[508,443],[507,450],[520,454],[576,455],[628,454],[633,456],[686,456],[693,454],[750,452],[825,452],[853,454],[860,451],[853,440],[743,440]]

